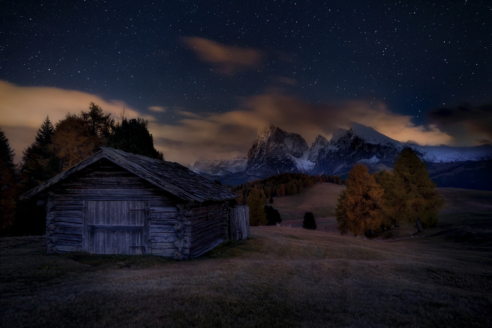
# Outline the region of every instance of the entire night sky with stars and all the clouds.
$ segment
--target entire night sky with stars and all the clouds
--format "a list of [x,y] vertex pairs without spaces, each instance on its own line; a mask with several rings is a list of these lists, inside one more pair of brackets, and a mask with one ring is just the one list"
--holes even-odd
[[182,163],[246,152],[270,123],[308,144],[351,121],[421,144],[492,140],[490,1],[54,2],[2,5],[0,125],[18,156],[46,115],[89,101],[149,119]]

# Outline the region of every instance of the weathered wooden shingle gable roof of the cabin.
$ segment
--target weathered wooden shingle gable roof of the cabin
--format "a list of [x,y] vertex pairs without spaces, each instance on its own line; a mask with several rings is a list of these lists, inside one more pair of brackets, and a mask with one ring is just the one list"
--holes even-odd
[[202,203],[205,201],[227,201],[238,197],[235,193],[194,173],[181,164],[136,155],[119,149],[101,147],[101,150],[92,156],[21,195],[21,199],[30,198],[103,158],[187,201]]

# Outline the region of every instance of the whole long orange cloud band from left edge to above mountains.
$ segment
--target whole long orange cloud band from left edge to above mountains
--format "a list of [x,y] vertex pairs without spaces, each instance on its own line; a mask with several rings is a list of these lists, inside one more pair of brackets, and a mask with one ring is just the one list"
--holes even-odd
[[[411,117],[392,113],[384,104],[364,101],[345,101],[337,104],[312,105],[297,97],[264,94],[251,97],[236,110],[207,117],[179,110],[177,124],[164,124],[128,108],[121,100],[105,100],[93,94],[47,87],[19,87],[0,81],[1,127],[16,151],[34,141],[36,130],[46,115],[55,123],[68,112],[88,110],[89,102],[101,106],[106,113],[117,117],[126,108],[130,118],[149,120],[155,148],[164,152],[166,160],[192,163],[200,157],[246,153],[258,130],[275,124],[288,132],[301,134],[308,144],[318,134],[330,138],[339,127],[349,128],[352,122],[373,127],[402,142],[422,145],[453,144],[453,137],[435,125],[417,126]],[[163,107],[153,106],[157,113]]]

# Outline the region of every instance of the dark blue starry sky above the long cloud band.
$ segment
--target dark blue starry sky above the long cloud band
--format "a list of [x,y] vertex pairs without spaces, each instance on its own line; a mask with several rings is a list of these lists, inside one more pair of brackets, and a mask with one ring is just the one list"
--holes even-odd
[[485,0],[4,7],[0,80],[120,99],[166,124],[182,119],[180,111],[231,112],[261,94],[313,105],[383,102],[415,124],[426,124],[436,107],[492,101]]

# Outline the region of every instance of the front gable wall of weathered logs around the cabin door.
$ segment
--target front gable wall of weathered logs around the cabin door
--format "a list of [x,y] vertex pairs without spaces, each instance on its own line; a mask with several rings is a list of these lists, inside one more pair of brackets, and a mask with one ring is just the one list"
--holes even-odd
[[[108,251],[108,245],[100,245],[99,247],[95,245],[90,246],[88,241],[84,243],[84,240],[88,238],[91,229],[94,234],[100,234],[100,238],[102,238],[101,236],[105,234],[103,233],[104,229],[113,232],[116,231],[110,230],[109,227],[103,227],[104,225],[116,226],[121,223],[102,224],[99,221],[97,221],[99,223],[91,221],[89,223],[86,222],[86,225],[84,225],[84,213],[86,213],[86,217],[89,215],[89,211],[92,210],[90,209],[91,202],[101,201],[115,201],[116,203],[114,204],[117,204],[118,202],[123,202],[124,204],[143,204],[138,202],[147,202],[145,204],[148,205],[145,206],[146,208],[148,207],[148,209],[145,209],[145,211],[147,211],[145,215],[147,215],[149,222],[145,222],[144,226],[145,224],[147,224],[147,226],[142,228],[143,231],[146,232],[145,236],[142,235],[142,238],[147,239],[142,240],[142,243],[146,245],[146,248],[145,250],[144,248],[135,250],[135,253],[144,251],[145,253],[154,255],[166,257],[174,256],[175,252],[178,250],[175,245],[177,231],[174,227],[178,218],[178,208],[176,207],[178,198],[105,159],[98,161],[61,181],[49,192],[48,202],[46,204],[48,253],[82,250],[92,250],[94,252]],[[94,204],[95,203],[93,203],[93,205]],[[99,206],[102,206],[101,204],[99,204]],[[104,204],[109,204],[108,210],[112,210],[111,204],[113,203],[109,202]],[[121,206],[127,205],[114,206],[114,209],[119,208],[118,210],[120,210]],[[92,220],[95,219],[92,218]],[[91,228],[91,225],[95,227]],[[137,224],[133,225],[133,227],[136,226]],[[86,228],[86,230],[84,230],[84,228]],[[127,235],[123,234],[123,230],[125,229],[140,230],[140,228],[120,228],[120,239],[127,238]],[[111,243],[116,243],[116,245],[118,245],[119,242],[120,241],[108,241],[110,245]],[[135,240],[135,243],[136,242],[137,240]],[[129,246],[131,246],[131,241]],[[135,246],[138,245],[135,244]],[[149,247],[150,249],[147,249]],[[103,250],[104,248],[106,250]],[[110,252],[115,252],[115,249],[120,249],[117,252],[122,250],[126,252],[124,249],[128,248],[124,248],[123,246],[109,246],[109,249]],[[130,254],[133,254],[133,252],[130,252]]]

